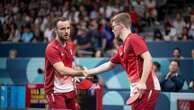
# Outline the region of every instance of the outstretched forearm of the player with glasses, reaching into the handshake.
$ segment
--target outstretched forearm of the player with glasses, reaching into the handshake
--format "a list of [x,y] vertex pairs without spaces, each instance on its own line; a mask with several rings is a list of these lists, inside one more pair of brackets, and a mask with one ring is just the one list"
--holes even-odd
[[111,62],[106,62],[106,63],[104,63],[96,68],[92,68],[92,69],[87,70],[87,72],[89,75],[96,75],[96,74],[108,71],[113,67],[114,67],[114,64],[112,64]]

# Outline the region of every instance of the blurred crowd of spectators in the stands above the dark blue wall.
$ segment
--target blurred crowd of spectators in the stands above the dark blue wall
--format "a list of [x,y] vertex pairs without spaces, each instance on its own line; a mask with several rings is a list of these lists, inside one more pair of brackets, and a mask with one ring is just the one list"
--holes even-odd
[[[158,16],[164,17],[164,15],[167,15],[172,18],[176,14],[176,19],[172,19],[173,22],[169,22],[169,24],[164,22],[163,18],[160,19],[162,20],[161,26],[165,25],[165,31],[163,32],[161,30],[164,40],[194,39],[194,14],[192,13],[192,6],[185,7],[187,10],[182,15],[180,14],[182,12],[175,13],[178,7],[175,6],[173,9],[168,8],[171,4],[165,4],[165,0],[163,3],[158,0],[5,1],[0,2],[0,41],[3,42],[49,42],[53,39],[51,37],[53,36],[53,32],[50,26],[52,19],[56,16],[65,16],[71,19],[76,29],[87,27],[89,32],[91,22],[95,20],[97,22],[97,28],[93,29],[100,34],[97,34],[92,40],[97,39],[98,42],[95,42],[97,43],[95,46],[101,46],[100,48],[106,52],[112,49],[113,46],[113,36],[111,27],[109,26],[109,19],[121,11],[130,13],[133,22],[133,32],[137,31],[141,32],[141,34],[147,34],[150,29],[152,30],[152,27],[145,27],[146,23],[149,25],[154,24],[154,26],[155,24],[159,24],[157,20]],[[126,4],[122,5],[124,2]],[[160,6],[163,4],[165,8],[160,9]],[[185,16],[188,19],[183,21],[182,18]],[[184,23],[187,28],[183,27]],[[26,27],[26,24],[30,24],[30,26]],[[36,30],[36,26],[34,25],[38,25],[40,31]],[[24,32],[23,26],[25,27],[25,31],[28,28],[27,30],[30,32]],[[158,28],[161,29],[160,27]],[[146,32],[144,32],[145,30]],[[44,37],[39,36],[42,33]],[[155,32],[154,34],[156,34],[153,38],[154,40],[163,40],[159,36],[159,32]],[[77,32],[75,33],[76,35]]]

